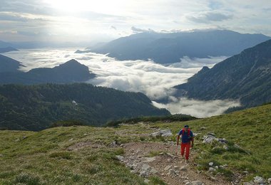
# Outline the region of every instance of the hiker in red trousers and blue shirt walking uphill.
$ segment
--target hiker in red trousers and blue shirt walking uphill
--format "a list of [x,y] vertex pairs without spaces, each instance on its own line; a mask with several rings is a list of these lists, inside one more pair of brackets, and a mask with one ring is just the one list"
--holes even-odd
[[[190,147],[193,148],[194,146],[193,132],[190,130],[188,125],[185,125],[185,127],[183,127],[183,129],[181,129],[178,134],[177,146],[179,145],[180,135],[182,136],[182,142],[180,144],[180,154],[182,155],[182,157],[185,154],[185,162],[188,162]],[[192,144],[190,142],[192,142]]]

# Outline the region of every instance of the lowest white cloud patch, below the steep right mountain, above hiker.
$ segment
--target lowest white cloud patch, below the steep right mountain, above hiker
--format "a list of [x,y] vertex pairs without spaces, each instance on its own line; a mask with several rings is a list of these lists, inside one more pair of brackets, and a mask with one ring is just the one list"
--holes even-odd
[[162,104],[153,101],[153,105],[159,108],[166,108],[171,114],[185,114],[195,117],[211,117],[221,115],[230,107],[240,106],[240,102],[232,100],[210,100],[200,101],[188,98],[172,97],[173,102]]

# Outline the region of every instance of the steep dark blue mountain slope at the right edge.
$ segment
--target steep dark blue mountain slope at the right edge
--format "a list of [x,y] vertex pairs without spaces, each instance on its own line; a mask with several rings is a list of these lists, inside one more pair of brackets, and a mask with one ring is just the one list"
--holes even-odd
[[271,102],[271,40],[204,67],[188,83],[175,86],[178,96],[201,100],[239,99],[245,107]]

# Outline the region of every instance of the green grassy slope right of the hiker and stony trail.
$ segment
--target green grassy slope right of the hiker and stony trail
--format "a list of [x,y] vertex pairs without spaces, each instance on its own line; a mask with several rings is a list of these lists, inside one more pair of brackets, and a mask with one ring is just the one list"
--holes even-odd
[[[270,178],[271,105],[193,120],[185,122],[186,124],[193,132],[200,133],[195,137],[194,149],[197,151],[195,162],[227,164],[227,170],[231,173],[249,171],[250,175],[247,179],[252,179],[252,176],[256,175]],[[180,122],[160,123],[158,126],[173,129],[173,132],[177,133],[183,124]],[[207,127],[207,129],[202,130],[201,127]],[[227,146],[229,149],[223,149],[223,145],[218,143],[203,144],[202,137],[208,132],[215,133],[215,137],[227,139],[230,142]],[[240,148],[233,144],[239,145]],[[201,154],[201,152],[205,153]]]

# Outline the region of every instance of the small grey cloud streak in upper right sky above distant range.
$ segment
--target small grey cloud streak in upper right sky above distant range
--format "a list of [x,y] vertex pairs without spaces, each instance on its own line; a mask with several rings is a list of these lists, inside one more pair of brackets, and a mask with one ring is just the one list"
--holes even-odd
[[233,15],[217,11],[204,11],[199,13],[190,13],[186,15],[185,18],[195,23],[210,23],[231,19],[233,18]]

